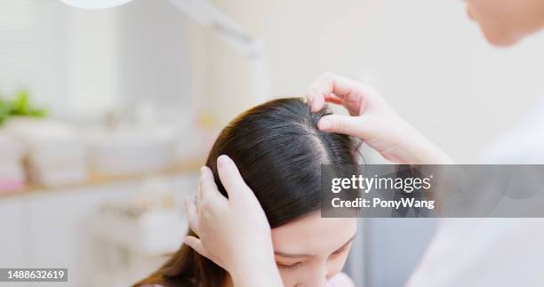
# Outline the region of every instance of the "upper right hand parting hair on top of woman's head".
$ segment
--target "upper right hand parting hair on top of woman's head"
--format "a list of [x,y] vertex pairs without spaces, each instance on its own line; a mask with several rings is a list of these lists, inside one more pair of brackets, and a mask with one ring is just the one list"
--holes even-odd
[[347,134],[364,141],[394,163],[439,164],[452,159],[398,116],[372,86],[333,74],[310,85],[308,104],[316,112],[325,103],[341,105],[350,116],[323,116],[318,128]]

